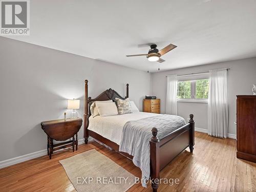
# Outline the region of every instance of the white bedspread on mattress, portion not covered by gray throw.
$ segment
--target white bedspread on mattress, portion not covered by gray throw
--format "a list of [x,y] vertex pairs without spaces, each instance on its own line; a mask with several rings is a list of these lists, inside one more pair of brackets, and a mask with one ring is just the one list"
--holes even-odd
[[146,117],[154,117],[160,114],[145,113],[145,112],[133,112],[123,115],[114,115],[107,117],[89,117],[88,130],[91,130],[106,139],[109,139],[118,145],[121,143],[123,125],[127,121],[143,119]]

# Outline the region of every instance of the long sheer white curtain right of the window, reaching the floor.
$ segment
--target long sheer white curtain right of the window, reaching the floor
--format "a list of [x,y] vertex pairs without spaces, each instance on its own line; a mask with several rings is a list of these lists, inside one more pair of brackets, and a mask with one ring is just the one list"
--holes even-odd
[[208,134],[227,138],[227,70],[209,71]]

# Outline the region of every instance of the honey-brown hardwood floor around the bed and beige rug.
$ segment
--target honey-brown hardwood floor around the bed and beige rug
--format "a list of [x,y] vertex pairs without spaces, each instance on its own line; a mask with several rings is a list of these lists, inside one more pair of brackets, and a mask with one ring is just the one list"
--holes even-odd
[[[219,139],[196,132],[195,150],[181,153],[160,173],[161,178],[178,178],[180,183],[161,184],[158,191],[256,191],[256,163],[236,158],[236,140]],[[0,169],[0,191],[76,191],[58,162],[95,148],[117,164],[141,176],[140,169],[122,155],[92,142],[48,156]],[[86,163],[86,162],[85,162]],[[134,185],[129,191],[152,191]]]

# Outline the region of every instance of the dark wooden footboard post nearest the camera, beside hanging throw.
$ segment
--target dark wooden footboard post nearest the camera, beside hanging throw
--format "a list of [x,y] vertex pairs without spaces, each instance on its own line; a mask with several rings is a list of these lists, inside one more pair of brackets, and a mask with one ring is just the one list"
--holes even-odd
[[152,179],[152,188],[154,192],[157,192],[160,182],[160,145],[157,137],[157,128],[153,127],[152,135],[150,140],[150,177]]

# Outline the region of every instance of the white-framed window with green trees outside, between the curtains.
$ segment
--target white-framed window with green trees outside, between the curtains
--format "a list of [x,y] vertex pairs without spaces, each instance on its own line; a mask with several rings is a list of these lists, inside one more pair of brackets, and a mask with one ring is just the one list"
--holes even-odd
[[207,102],[209,79],[198,79],[178,82],[178,101]]

